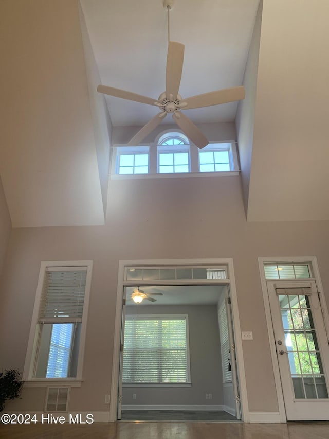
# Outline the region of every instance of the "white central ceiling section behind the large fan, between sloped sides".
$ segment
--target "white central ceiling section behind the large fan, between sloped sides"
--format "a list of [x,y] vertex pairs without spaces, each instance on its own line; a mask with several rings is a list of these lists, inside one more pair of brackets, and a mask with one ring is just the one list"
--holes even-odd
[[[259,0],[176,0],[170,39],[185,45],[182,97],[242,84]],[[157,99],[165,90],[162,0],[81,0],[101,82]],[[113,126],[143,125],[153,106],[106,96]],[[189,110],[194,122],[233,121],[237,103]],[[172,120],[167,117],[166,122]]]

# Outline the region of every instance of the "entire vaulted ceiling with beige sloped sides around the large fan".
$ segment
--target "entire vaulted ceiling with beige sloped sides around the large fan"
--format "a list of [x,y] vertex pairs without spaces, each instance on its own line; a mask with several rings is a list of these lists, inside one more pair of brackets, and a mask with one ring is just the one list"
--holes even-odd
[[[0,175],[14,227],[103,224],[111,121],[155,112],[104,101],[97,84],[165,89],[162,0],[79,5],[0,4]],[[327,16],[327,0],[176,0],[170,12],[171,40],[185,45],[180,94],[246,88],[239,104],[188,116],[235,120],[249,221],[329,219]]]

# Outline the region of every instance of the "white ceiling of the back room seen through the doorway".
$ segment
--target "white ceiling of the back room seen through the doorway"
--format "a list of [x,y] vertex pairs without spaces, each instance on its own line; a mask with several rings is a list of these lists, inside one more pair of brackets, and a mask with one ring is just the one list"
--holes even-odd
[[[137,288],[126,287],[127,305],[139,306],[131,298],[131,294]],[[162,296],[150,295],[150,297],[156,299],[156,302],[143,300],[141,305],[216,305],[225,288],[224,285],[139,287],[145,294],[162,293]]]

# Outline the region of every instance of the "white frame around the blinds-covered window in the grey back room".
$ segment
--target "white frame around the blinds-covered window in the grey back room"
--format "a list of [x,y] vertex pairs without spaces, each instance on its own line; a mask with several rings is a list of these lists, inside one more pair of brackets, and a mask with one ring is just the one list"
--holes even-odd
[[139,320],[163,319],[163,320],[185,320],[186,327],[186,357],[187,357],[187,380],[185,382],[122,382],[123,387],[191,387],[190,367],[190,339],[189,339],[189,316],[188,314],[127,314],[126,317],[138,318]]

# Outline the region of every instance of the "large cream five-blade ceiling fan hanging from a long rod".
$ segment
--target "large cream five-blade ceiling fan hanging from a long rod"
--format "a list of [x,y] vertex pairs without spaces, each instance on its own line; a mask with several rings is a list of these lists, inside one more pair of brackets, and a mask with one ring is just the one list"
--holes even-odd
[[99,85],[97,91],[109,96],[115,96],[122,99],[128,99],[135,102],[145,103],[156,106],[160,112],[154,116],[141,130],[134,135],[127,145],[138,145],[150,134],[167,116],[172,114],[178,127],[190,138],[198,147],[203,148],[208,145],[209,141],[197,126],[180,110],[190,110],[192,108],[210,107],[221,103],[233,102],[245,97],[243,86],[233,87],[231,89],[216,90],[201,95],[192,96],[183,99],[179,91],[182,66],[184,61],[184,45],[170,41],[169,35],[169,12],[172,9],[174,1],[164,0],[163,6],[168,11],[168,53],[166,67],[166,91],[161,93],[159,98],[153,99],[125,90],[115,89],[106,85]]

